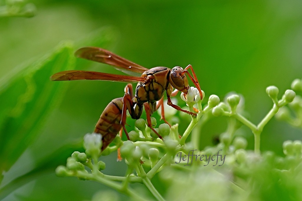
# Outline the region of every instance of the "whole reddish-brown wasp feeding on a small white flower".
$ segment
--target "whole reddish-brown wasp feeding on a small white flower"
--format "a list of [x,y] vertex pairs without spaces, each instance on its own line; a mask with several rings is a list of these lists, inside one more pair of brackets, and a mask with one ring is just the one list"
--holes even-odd
[[[198,88],[199,94],[202,93],[198,83],[196,74],[191,65],[185,69],[175,66],[170,69],[167,67],[154,67],[147,69],[141,65],[133,63],[124,59],[108,50],[97,47],[83,47],[75,52],[75,56],[83,59],[88,59],[96,62],[112,65],[115,69],[120,70],[128,75],[114,75],[93,71],[71,70],[58,72],[50,77],[52,81],[66,81],[66,80],[107,80],[126,83],[137,83],[135,94],[133,96],[132,84],[127,84],[125,87],[125,94],[123,97],[112,100],[103,113],[95,126],[94,132],[102,135],[103,151],[122,130],[124,130],[127,139],[130,140],[128,132],[125,128],[127,110],[132,119],[139,119],[142,115],[143,108],[146,111],[148,127],[155,132],[160,139],[156,130],[152,127],[151,115],[162,106],[162,119],[165,120],[163,111],[163,95],[166,92],[167,104],[176,110],[196,116],[196,113],[181,109],[171,101],[171,97],[175,96],[178,91],[184,94],[188,93],[189,76],[191,81]],[[188,72],[191,69],[193,76]],[[173,91],[173,88],[175,90]],[[169,124],[169,123],[168,123]]]

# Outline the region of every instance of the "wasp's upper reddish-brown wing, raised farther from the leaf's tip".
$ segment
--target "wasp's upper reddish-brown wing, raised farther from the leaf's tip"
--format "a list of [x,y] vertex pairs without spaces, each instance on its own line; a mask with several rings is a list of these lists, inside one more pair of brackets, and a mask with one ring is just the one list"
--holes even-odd
[[141,75],[144,71],[149,70],[141,65],[124,59],[106,49],[98,47],[83,47],[75,52],[75,56],[96,62],[112,65],[115,69],[128,75]]

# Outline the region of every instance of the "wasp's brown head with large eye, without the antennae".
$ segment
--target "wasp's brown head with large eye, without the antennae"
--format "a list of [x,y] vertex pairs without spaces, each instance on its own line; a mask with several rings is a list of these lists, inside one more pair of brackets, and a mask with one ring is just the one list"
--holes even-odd
[[184,69],[182,69],[182,67],[175,66],[170,72],[169,82],[171,83],[172,87],[187,94],[189,84],[187,77],[182,75],[183,71]]

